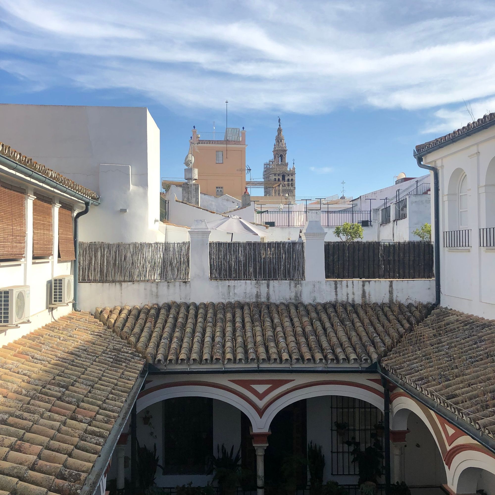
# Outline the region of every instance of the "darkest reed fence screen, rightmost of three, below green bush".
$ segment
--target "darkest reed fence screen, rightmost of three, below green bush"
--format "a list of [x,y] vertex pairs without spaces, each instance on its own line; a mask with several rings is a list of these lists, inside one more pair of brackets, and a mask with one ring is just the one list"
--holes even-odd
[[433,278],[433,245],[403,243],[326,242],[325,278]]

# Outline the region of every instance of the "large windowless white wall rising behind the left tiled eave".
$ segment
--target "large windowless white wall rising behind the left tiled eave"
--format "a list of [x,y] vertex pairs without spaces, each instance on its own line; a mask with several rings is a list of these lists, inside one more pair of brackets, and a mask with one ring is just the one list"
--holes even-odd
[[80,220],[82,241],[163,240],[159,130],[147,108],[0,104],[0,136],[101,196]]

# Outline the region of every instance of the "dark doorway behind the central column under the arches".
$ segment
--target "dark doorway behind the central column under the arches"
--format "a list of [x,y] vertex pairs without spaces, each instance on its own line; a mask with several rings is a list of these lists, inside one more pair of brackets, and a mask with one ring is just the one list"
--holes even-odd
[[[250,422],[242,415],[242,464],[253,473],[249,488],[256,485],[256,454],[249,434]],[[265,487],[267,495],[291,492],[291,485],[304,488],[306,476],[306,400],[299,400],[282,409],[270,425],[271,435],[265,450]],[[294,474],[292,480],[288,480]],[[294,488],[296,488],[294,487]]]

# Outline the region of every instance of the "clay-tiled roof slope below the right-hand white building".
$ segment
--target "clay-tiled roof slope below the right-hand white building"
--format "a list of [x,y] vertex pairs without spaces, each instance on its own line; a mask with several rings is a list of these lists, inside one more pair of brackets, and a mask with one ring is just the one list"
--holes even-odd
[[495,438],[494,320],[435,309],[382,366]]

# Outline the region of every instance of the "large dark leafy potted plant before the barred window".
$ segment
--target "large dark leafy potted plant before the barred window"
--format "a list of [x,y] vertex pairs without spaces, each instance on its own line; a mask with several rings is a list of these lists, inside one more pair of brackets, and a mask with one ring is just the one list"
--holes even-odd
[[355,438],[346,442],[352,447],[352,462],[357,463],[359,480],[357,484],[362,495],[375,495],[378,488],[378,478],[382,476],[383,452],[382,444],[377,439],[376,434],[371,434],[373,444],[361,450],[361,445]]

